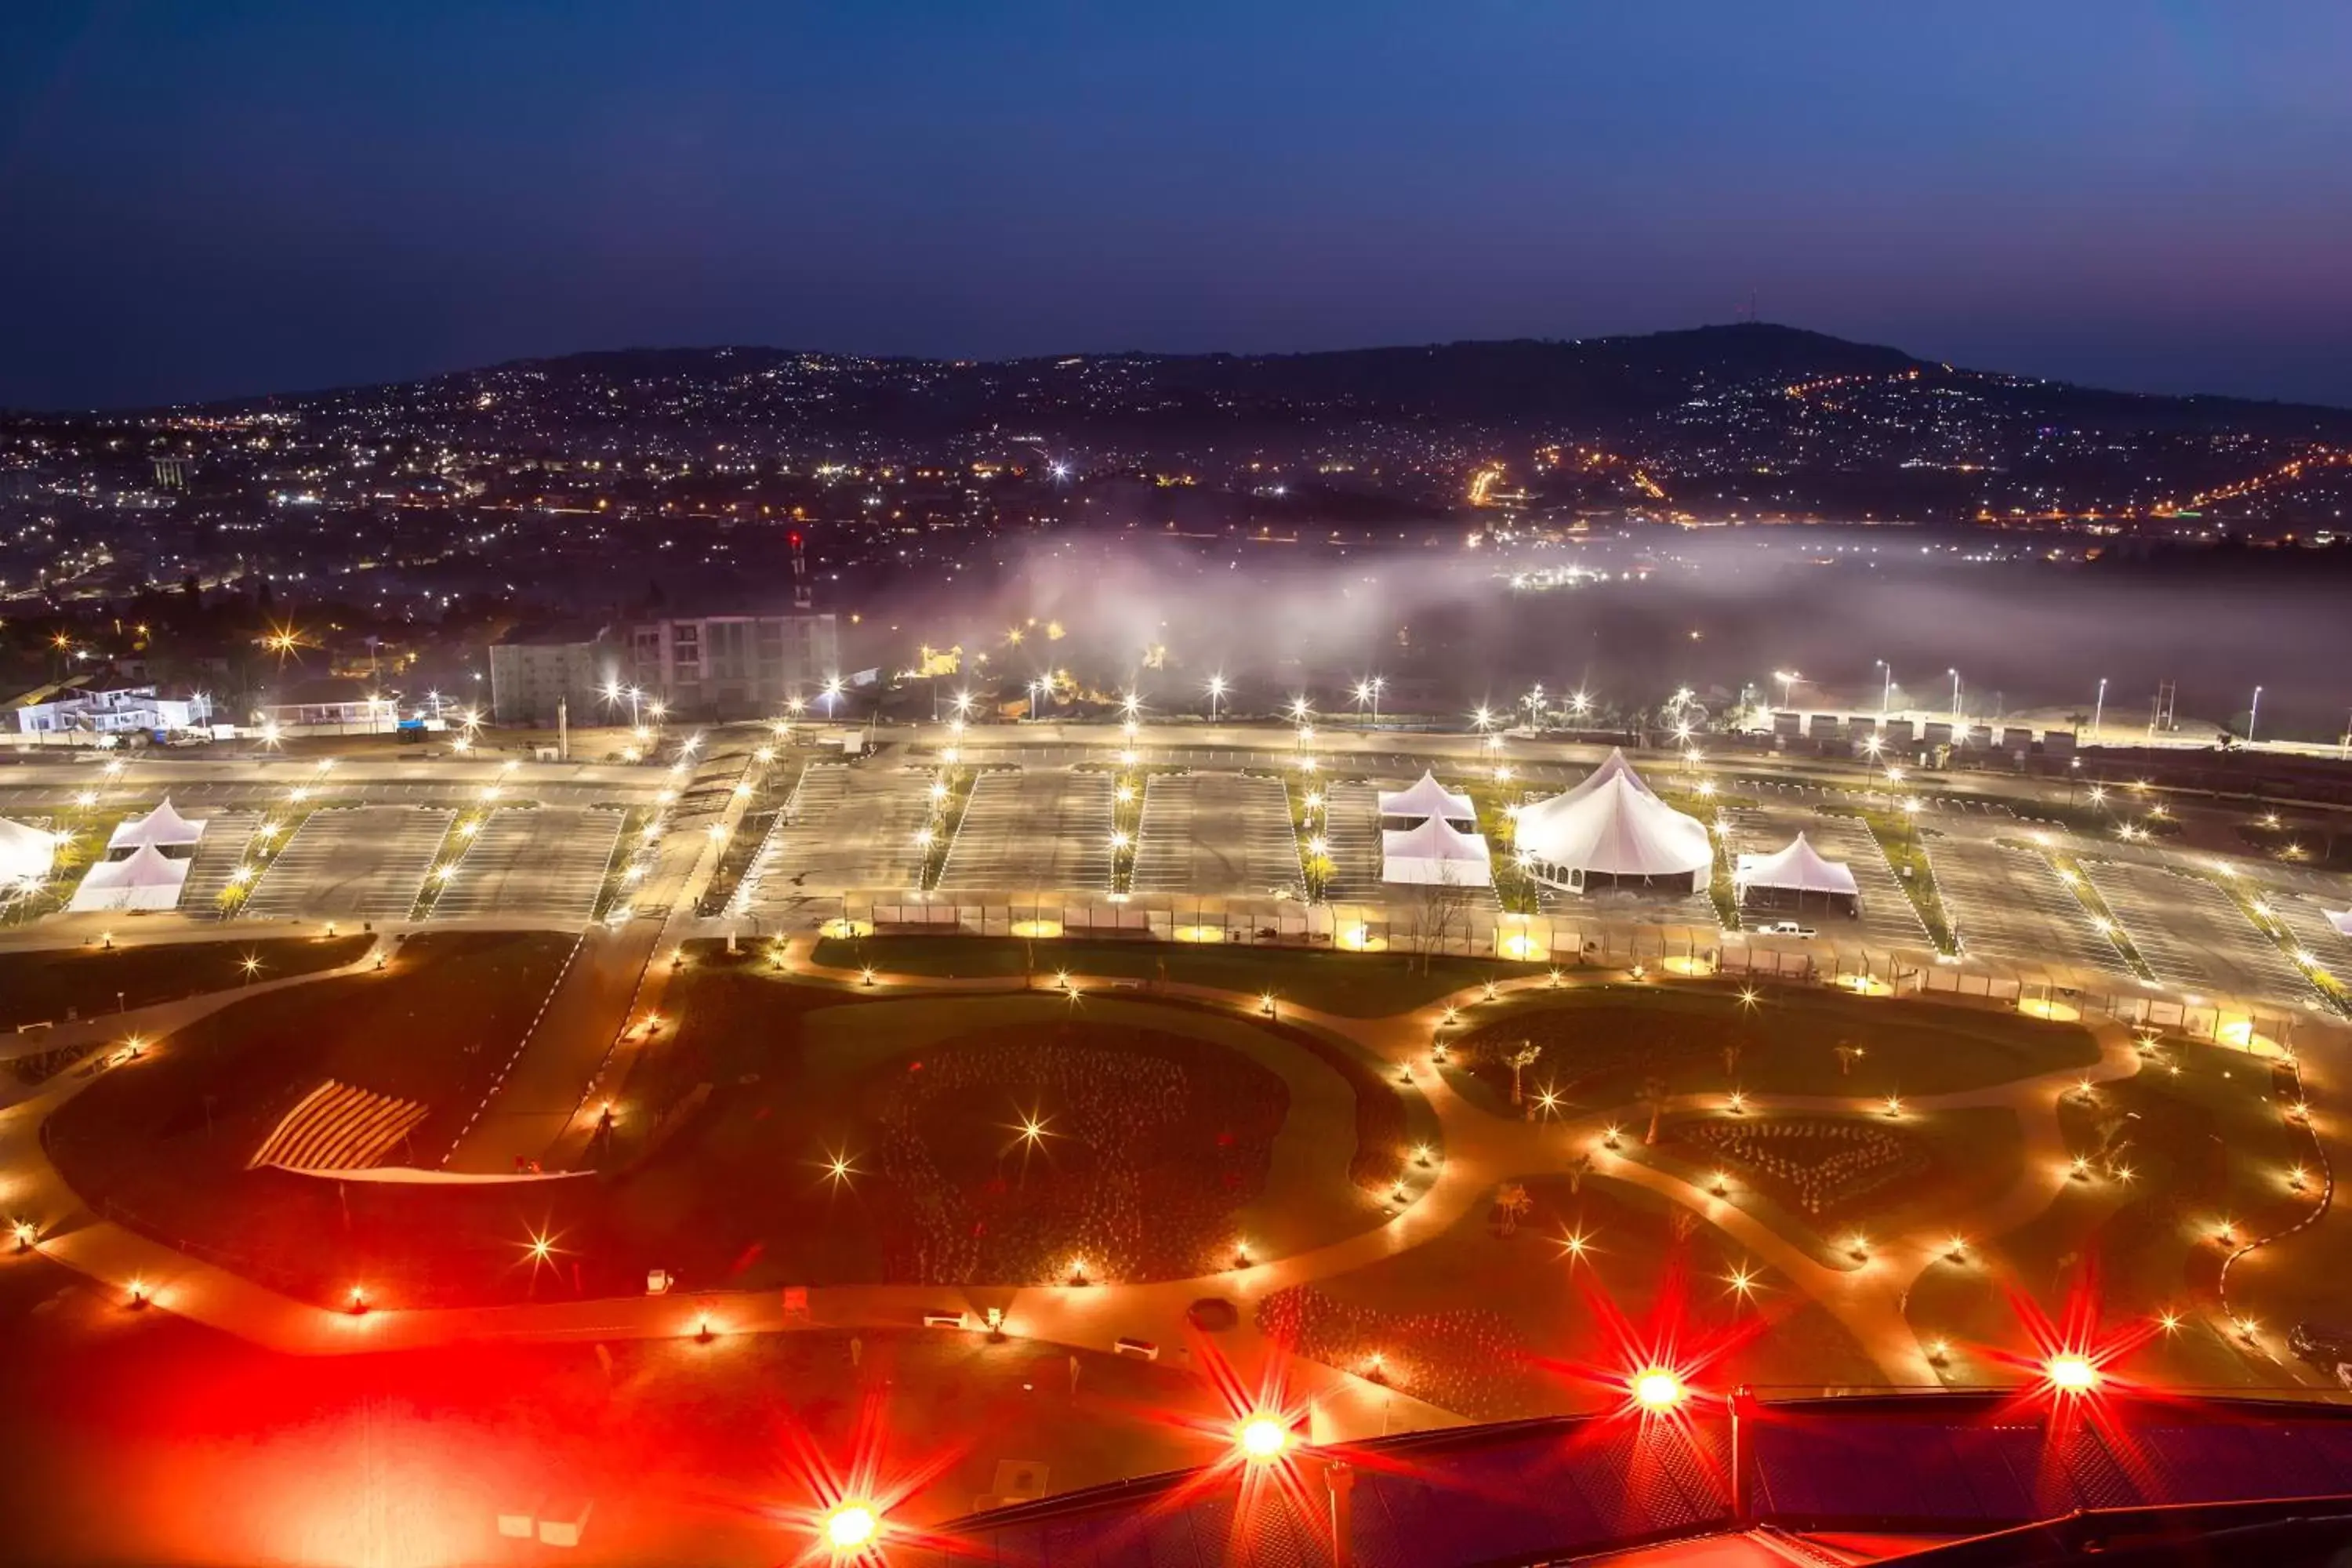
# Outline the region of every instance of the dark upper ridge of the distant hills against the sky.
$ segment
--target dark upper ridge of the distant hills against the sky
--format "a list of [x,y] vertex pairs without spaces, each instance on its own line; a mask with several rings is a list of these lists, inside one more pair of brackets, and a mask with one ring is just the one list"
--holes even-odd
[[[2154,397],[1964,371],[1900,348],[1740,322],[1611,339],[1508,339],[1291,355],[1101,353],[1028,360],[913,360],[790,348],[623,348],[513,360],[383,388],[341,388],[214,407],[329,411],[416,402],[454,423],[517,411],[586,423],[790,423],[873,435],[938,435],[1049,423],[1058,433],[1185,437],[1207,428],[1416,421],[1475,428],[1623,428],[1710,393],[1839,376],[1966,383],[2011,421],[2133,430],[2234,430],[2352,440],[2352,411],[2239,397]],[[492,397],[485,402],[482,395]]]

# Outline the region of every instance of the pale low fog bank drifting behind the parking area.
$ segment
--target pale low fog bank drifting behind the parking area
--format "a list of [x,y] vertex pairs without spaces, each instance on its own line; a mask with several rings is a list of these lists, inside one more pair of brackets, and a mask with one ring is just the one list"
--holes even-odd
[[[1439,538],[1348,552],[1155,536],[1004,545],[993,576],[894,592],[870,621],[896,630],[868,644],[903,663],[915,644],[960,644],[967,672],[1014,686],[1044,670],[1138,684],[1162,710],[1202,705],[1209,675],[1244,710],[1301,689],[1329,708],[1367,675],[1411,691],[1404,708],[1468,710],[1536,682],[1611,705],[1675,686],[1778,696],[1776,670],[1804,677],[1799,708],[1877,710],[1877,661],[1893,665],[1896,708],[1936,712],[1957,668],[1973,717],[2089,712],[2100,677],[2110,724],[2145,722],[2159,682],[2176,682],[2183,726],[2241,726],[2260,684],[2270,738],[2336,738],[2352,705],[2347,583],[2296,555],[2220,576],[1969,559],[1985,545],[1896,529],[1661,529],[1548,550]],[[1569,567],[1599,576],[1538,585]],[[1167,649],[1160,670],[1143,668],[1152,646]]]

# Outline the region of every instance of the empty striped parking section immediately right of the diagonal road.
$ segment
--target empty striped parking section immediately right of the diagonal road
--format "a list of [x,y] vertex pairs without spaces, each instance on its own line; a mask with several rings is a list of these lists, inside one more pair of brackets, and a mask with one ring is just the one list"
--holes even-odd
[[774,919],[809,896],[915,886],[931,778],[929,769],[809,764],[743,879],[743,907]]

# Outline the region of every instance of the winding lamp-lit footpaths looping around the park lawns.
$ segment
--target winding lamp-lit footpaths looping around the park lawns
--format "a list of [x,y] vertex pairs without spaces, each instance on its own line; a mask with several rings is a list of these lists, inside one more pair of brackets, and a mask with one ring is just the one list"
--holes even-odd
[[[334,973],[365,971],[372,964],[374,954],[339,971],[270,980],[252,990],[303,985]],[[814,938],[809,936],[793,938],[786,945],[783,966],[807,980],[863,990],[861,976],[816,966]],[[1075,980],[1082,992],[1117,985],[1117,980],[1108,978],[1080,976]],[[894,992],[1011,990],[997,978],[948,980],[936,976],[889,978],[884,985]],[[1505,980],[1501,990],[1524,992],[1543,990],[1545,985],[1545,978],[1526,978]],[[1021,987],[1028,987],[1028,980],[1021,980]],[[228,1006],[245,994],[249,992],[216,992],[143,1009],[127,1020],[141,1032],[167,1034],[191,1018]],[[1256,997],[1240,997],[1204,985],[1171,983],[1157,987],[1152,994],[1207,1001],[1232,1009],[1240,1016],[1256,1016],[1258,1011]],[[1312,1009],[1284,1006],[1282,1013],[1287,1018],[1348,1037],[1385,1063],[1411,1072],[1414,1086],[1428,1098],[1439,1119],[1444,1138],[1442,1166],[1425,1185],[1414,1182],[1416,1192],[1411,1201],[1371,1229],[1305,1253],[1200,1279],[1004,1288],[816,1286],[809,1288],[807,1316],[793,1321],[786,1321],[779,1293],[724,1291],[668,1298],[520,1302],[503,1307],[376,1307],[355,1316],[292,1300],[89,1213],[59,1178],[40,1145],[40,1121],[87,1081],[75,1077],[52,1081],[26,1095],[19,1105],[0,1110],[0,1206],[38,1220],[42,1225],[40,1248],[59,1262],[118,1288],[127,1288],[132,1279],[139,1279],[158,1307],[287,1354],[346,1354],[463,1340],[684,1338],[694,1335],[703,1324],[720,1335],[779,1333],[790,1328],[910,1328],[920,1324],[920,1314],[927,1309],[964,1307],[978,1319],[988,1307],[1000,1307],[1007,1331],[1021,1338],[1096,1352],[1115,1352],[1122,1338],[1136,1338],[1160,1345],[1169,1359],[1181,1361],[1185,1356],[1181,1349],[1185,1345],[1185,1307],[1202,1295],[1225,1295],[1244,1307],[1242,1324],[1228,1335],[1225,1352],[1235,1361],[1249,1363],[1265,1349],[1249,1312],[1251,1302],[1272,1291],[1341,1276],[1421,1246],[1491,1201],[1498,1182],[1522,1175],[1566,1173],[1576,1152],[1592,1150],[1597,1173],[1691,1208],[1745,1246],[1757,1260],[1780,1272],[1792,1288],[1820,1302],[1891,1382],[1936,1385],[1936,1371],[1929,1366],[1926,1352],[1903,1314],[1910,1286],[1929,1265],[1943,1258],[1950,1232],[1957,1229],[1980,1241],[2013,1229],[2049,1208],[2067,1182],[2067,1150],[2058,1126],[2063,1095],[2082,1077],[2114,1081],[2131,1077],[2140,1067],[2129,1032],[2110,1020],[2093,1027],[2100,1044],[2100,1060],[2089,1074],[2065,1070],[2013,1079],[1992,1088],[1910,1100],[1910,1107],[1917,1112],[1987,1105],[2016,1112],[2023,1126],[2023,1168],[2006,1192],[1971,1213],[1952,1218],[1950,1225],[1938,1225],[1933,1237],[1884,1239],[1875,1244],[1865,1265],[1832,1267],[1816,1260],[1799,1244],[1780,1237],[1771,1225],[1750,1215],[1738,1204],[1717,1199],[1658,1166],[1602,1150],[1604,1119],[1599,1114],[1545,1124],[1510,1121],[1454,1093],[1444,1077],[1428,1065],[1428,1044],[1446,1004],[1468,1011],[1479,999],[1482,987],[1468,987],[1449,999],[1437,999],[1423,1009],[1390,1018],[1341,1018]],[[165,1041],[158,1048],[169,1048],[169,1044]],[[1705,1100],[1684,1098],[1682,1103],[1698,1105]],[[1867,1114],[1879,1103],[1835,1095],[1757,1095],[1755,1105],[1759,1110]],[[1367,1201],[1371,1199],[1367,1197]],[[1298,1380],[1317,1399],[1317,1434],[1329,1439],[1465,1420],[1451,1410],[1305,1359],[1298,1361]]]

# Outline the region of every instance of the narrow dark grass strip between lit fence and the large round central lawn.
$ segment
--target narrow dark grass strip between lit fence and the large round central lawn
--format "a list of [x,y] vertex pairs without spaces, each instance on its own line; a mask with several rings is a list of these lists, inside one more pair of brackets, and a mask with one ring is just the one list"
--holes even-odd
[[1056,969],[1122,980],[1176,980],[1256,997],[1272,990],[1341,1018],[1385,1018],[1425,1006],[1465,985],[1524,973],[1486,959],[1421,961],[1388,952],[1301,952],[1294,947],[1214,947],[1190,943],[1023,943],[993,936],[868,936],[823,938],[816,961],[828,969],[873,964],[882,973],[1051,980]]

